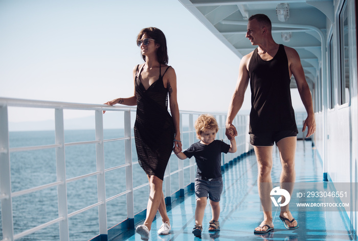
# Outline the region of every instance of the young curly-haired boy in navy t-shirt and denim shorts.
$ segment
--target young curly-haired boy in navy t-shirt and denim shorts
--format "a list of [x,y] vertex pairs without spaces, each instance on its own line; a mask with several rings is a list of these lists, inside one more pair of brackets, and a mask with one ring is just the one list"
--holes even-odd
[[235,137],[228,145],[225,142],[215,140],[219,130],[217,122],[212,115],[200,115],[195,121],[196,136],[200,140],[191,145],[184,152],[174,149],[176,156],[182,160],[195,156],[197,171],[195,178],[195,226],[193,234],[197,237],[202,235],[203,219],[207,199],[209,195],[212,220],[209,222],[209,231],[220,230],[220,196],[222,192],[221,178],[221,152],[236,152]]

